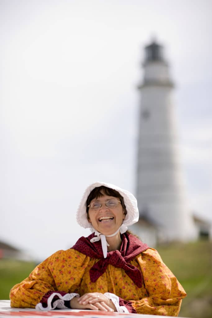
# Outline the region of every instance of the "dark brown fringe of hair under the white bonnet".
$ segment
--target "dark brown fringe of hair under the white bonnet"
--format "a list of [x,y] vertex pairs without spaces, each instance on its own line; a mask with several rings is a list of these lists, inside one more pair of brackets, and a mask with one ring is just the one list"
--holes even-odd
[[121,201],[121,205],[124,209],[124,214],[127,214],[127,210],[126,210],[126,206],[124,204],[124,198],[120,195],[120,193],[116,190],[113,190],[111,188],[107,188],[104,185],[101,185],[100,187],[94,188],[91,193],[89,194],[87,201],[86,201],[86,212],[88,213],[88,205],[91,203],[91,201],[93,199],[97,199],[99,197],[103,197],[104,194],[106,194],[106,196],[111,196],[111,197],[115,197],[115,198],[119,198]]

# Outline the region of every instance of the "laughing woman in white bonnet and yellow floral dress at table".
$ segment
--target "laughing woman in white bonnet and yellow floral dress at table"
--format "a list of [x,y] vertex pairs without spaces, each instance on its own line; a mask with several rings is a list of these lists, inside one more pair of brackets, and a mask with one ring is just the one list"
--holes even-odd
[[186,293],[158,252],[127,231],[138,218],[132,193],[91,184],[77,221],[92,234],[54,253],[15,285],[11,307],[177,316]]

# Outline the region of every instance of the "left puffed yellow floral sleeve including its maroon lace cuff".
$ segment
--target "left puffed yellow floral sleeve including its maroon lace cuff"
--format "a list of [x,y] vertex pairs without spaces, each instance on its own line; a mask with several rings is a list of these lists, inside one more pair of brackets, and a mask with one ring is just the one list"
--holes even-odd
[[11,307],[70,308],[88,262],[88,257],[73,249],[54,253],[10,290]]

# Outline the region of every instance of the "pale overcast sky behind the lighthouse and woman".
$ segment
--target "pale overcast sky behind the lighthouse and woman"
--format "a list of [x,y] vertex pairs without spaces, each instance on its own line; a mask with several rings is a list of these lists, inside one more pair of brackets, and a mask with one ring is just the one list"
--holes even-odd
[[90,234],[88,184],[136,190],[143,47],[164,45],[189,208],[212,220],[212,1],[5,0],[0,239],[42,260]]

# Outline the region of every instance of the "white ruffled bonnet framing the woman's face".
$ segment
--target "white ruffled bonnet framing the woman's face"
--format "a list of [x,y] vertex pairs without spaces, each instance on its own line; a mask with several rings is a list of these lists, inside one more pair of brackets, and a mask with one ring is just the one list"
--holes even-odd
[[121,189],[114,184],[105,183],[105,182],[95,182],[95,183],[92,183],[91,185],[89,185],[86,188],[85,193],[83,194],[82,200],[81,200],[79,207],[78,207],[78,210],[77,210],[77,222],[78,222],[78,224],[84,228],[90,228],[91,231],[94,232],[94,229],[93,229],[91,223],[89,223],[88,219],[87,219],[86,201],[87,201],[87,198],[88,198],[89,194],[91,193],[91,191],[94,188],[100,187],[102,185],[107,187],[107,188],[111,188],[113,190],[118,191],[120,193],[120,195],[124,198],[124,204],[126,206],[127,215],[126,215],[125,219],[123,220],[122,224],[125,226],[129,226],[129,225],[132,225],[132,224],[138,222],[139,211],[138,211],[138,206],[137,206],[137,200],[133,196],[132,193],[130,193],[127,190]]

